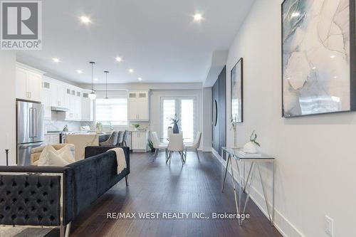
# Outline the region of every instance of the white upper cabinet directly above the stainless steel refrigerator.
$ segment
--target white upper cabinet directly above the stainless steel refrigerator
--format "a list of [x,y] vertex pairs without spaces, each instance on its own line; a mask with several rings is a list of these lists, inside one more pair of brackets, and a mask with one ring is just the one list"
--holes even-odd
[[16,98],[41,101],[43,72],[21,63],[16,64]]

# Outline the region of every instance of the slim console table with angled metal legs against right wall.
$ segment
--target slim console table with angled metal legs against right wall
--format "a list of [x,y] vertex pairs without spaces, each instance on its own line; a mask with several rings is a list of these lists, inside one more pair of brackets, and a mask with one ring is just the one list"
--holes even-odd
[[[274,158],[270,157],[266,154],[262,155],[256,155],[256,157],[253,157],[251,155],[248,155],[248,157],[244,157],[244,155],[240,154],[241,149],[231,149],[231,148],[226,148],[222,147],[221,148],[221,155],[224,155],[224,153],[227,154],[227,161],[226,161],[226,168],[224,171],[224,166],[221,163],[221,192],[224,192],[224,186],[226,182],[226,175],[229,171],[229,166],[230,166],[230,171],[231,171],[231,177],[232,181],[234,184],[234,198],[235,198],[235,205],[236,205],[236,211],[237,214],[245,214],[246,211],[246,206],[248,204],[248,199],[250,197],[250,191],[251,191],[251,184],[253,183],[253,177],[254,177],[254,172],[257,167],[258,170],[258,176],[260,177],[261,180],[261,186],[263,190],[263,196],[266,201],[266,208],[267,208],[267,214],[268,218],[271,221],[271,225],[273,226],[273,219],[274,219],[274,195],[273,195],[273,176],[274,176]],[[236,194],[236,181],[234,179],[234,169],[232,167],[232,160],[236,162],[236,169],[238,172],[238,179],[239,179],[239,196]],[[245,164],[246,162],[251,162],[251,165],[248,169],[248,174],[247,178],[245,179]],[[271,184],[271,199],[272,199],[272,209],[270,211],[269,209],[269,204],[268,204],[268,197],[266,194],[266,186],[264,184],[263,178],[261,176],[261,169],[260,169],[260,163],[261,162],[268,162],[272,166],[272,184]],[[241,209],[241,194],[242,191],[244,191],[247,196],[246,200],[244,203],[244,209]],[[239,225],[242,225],[242,219],[239,219]]]

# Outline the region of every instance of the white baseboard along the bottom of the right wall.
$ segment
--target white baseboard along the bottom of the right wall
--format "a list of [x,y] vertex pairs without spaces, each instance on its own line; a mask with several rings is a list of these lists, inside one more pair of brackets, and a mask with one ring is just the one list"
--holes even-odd
[[[221,158],[221,156],[218,154],[218,152],[216,152],[215,149],[211,149],[211,153],[214,154],[216,159],[218,159],[219,162],[221,162],[224,165],[224,167],[226,167],[226,162],[224,162],[224,159]],[[234,169],[234,174],[238,174],[237,170],[235,168],[233,169]],[[229,174],[231,175],[230,170],[229,170]],[[236,176],[234,177],[234,179],[236,183],[239,183]],[[262,213],[268,218],[268,214],[266,210],[266,201],[264,199],[263,194],[261,194],[255,188],[255,186],[251,186],[251,188],[253,189],[253,191],[251,191],[250,198],[256,204],[256,206],[258,206],[258,209],[260,209]],[[271,203],[269,203],[269,205],[270,207],[272,206]],[[288,221],[286,216],[283,216],[283,214],[281,214],[281,212],[276,209],[276,206],[274,208],[274,226],[281,233],[282,236],[305,237],[305,235],[303,235],[303,233],[301,233],[301,231],[299,231],[298,228],[296,228],[293,225],[293,223]]]

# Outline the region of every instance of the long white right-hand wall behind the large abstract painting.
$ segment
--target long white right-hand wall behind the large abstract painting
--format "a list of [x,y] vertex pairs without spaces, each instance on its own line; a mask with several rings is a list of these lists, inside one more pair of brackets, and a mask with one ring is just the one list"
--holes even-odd
[[[281,117],[281,0],[256,0],[229,50],[226,78],[240,57],[245,122],[238,142],[243,145],[256,130],[261,151],[277,158],[276,225],[286,236],[326,236],[327,214],[334,236],[356,236],[356,114]],[[271,169],[263,167],[263,173]],[[263,205],[255,186],[254,199]]]

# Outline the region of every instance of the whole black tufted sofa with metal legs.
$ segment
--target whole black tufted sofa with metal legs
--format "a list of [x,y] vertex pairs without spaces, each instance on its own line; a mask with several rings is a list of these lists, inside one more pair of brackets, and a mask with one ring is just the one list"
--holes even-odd
[[0,225],[59,226],[68,236],[80,211],[122,178],[128,185],[130,149],[122,147],[127,168],[117,174],[112,148],[85,147],[85,159],[66,167],[0,166]]

